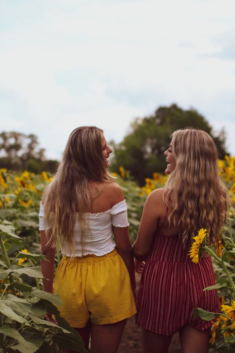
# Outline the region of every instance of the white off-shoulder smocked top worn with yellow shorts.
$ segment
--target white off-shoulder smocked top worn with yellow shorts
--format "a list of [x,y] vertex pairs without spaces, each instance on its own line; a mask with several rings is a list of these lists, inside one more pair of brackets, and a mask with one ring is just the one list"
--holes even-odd
[[[81,228],[78,219],[73,228],[75,251],[70,254],[69,248],[61,246],[61,252],[65,256],[85,256],[94,254],[102,256],[110,253],[115,248],[113,239],[113,228],[127,227],[127,207],[125,200],[114,205],[112,209],[100,213],[84,213],[84,219],[88,221],[89,227],[83,236],[83,252],[81,249]],[[39,230],[45,230],[44,207],[41,203],[39,212]]]

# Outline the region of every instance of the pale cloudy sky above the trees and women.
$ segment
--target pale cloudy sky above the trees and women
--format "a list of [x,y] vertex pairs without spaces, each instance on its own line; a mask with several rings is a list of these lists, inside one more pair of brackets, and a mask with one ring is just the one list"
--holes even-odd
[[173,103],[235,154],[234,0],[0,0],[0,131],[60,159],[78,126],[120,142]]

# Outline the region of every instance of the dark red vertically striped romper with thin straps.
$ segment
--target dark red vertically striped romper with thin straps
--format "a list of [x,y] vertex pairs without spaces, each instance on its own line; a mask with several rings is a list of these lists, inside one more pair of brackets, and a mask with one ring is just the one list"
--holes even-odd
[[171,336],[183,326],[206,330],[213,321],[196,319],[194,308],[218,312],[216,290],[203,291],[215,284],[211,257],[198,264],[188,256],[180,236],[169,237],[158,230],[146,262],[137,297],[136,324],[148,331]]

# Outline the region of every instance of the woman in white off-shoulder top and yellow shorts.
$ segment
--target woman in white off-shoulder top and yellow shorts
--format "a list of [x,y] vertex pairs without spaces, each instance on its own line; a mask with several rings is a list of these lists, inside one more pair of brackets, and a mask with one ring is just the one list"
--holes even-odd
[[[60,314],[86,349],[91,335],[92,353],[116,353],[136,312],[127,209],[108,172],[111,152],[101,129],[73,130],[39,213],[42,254],[50,261],[42,261],[44,289],[59,293]],[[58,240],[63,257],[53,288]]]

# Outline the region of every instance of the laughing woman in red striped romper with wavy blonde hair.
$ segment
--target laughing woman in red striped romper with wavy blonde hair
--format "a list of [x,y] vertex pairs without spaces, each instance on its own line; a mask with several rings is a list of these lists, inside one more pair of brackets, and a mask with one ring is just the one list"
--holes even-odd
[[[212,321],[193,317],[200,307],[218,311],[211,257],[192,263],[192,236],[206,228],[209,242],[221,234],[228,193],[218,175],[218,154],[212,138],[187,128],[172,135],[163,189],[147,198],[133,252],[144,266],[138,298],[137,325],[142,327],[144,353],[165,353],[179,332],[183,353],[206,353]],[[144,262],[143,262],[144,261]],[[141,263],[142,262],[142,263]]]

